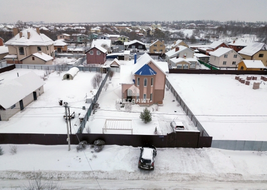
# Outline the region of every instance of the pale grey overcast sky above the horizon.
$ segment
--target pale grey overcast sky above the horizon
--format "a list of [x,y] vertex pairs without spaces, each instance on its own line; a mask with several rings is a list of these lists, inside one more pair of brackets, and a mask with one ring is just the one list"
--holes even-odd
[[0,0],[0,23],[267,21],[267,0]]

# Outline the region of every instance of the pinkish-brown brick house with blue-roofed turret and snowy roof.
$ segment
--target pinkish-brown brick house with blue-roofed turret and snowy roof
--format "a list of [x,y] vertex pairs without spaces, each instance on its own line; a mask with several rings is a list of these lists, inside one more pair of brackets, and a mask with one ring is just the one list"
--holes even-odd
[[122,99],[140,106],[162,104],[167,73],[167,62],[156,62],[146,53],[135,64],[120,65]]

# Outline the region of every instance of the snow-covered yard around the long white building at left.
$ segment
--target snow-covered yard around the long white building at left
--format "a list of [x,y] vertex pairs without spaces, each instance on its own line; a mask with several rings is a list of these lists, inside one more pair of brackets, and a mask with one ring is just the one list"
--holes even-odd
[[[7,82],[28,72],[35,72],[37,75],[43,75],[43,70],[34,69],[13,69],[0,74],[1,83]],[[68,102],[70,112],[75,112],[76,118],[72,119],[72,132],[77,131],[80,122],[78,113],[82,112],[83,106],[89,108],[90,104],[85,103],[85,97],[90,96],[93,89],[90,83],[95,72],[78,72],[74,80],[62,80],[62,72],[59,76],[56,72],[50,74],[45,81],[44,93],[38,97],[37,101],[32,102],[18,112],[9,121],[0,122],[0,132],[2,133],[67,133],[65,120],[65,108],[59,106],[59,100]],[[104,77],[104,74],[103,74]],[[44,108],[49,107],[49,108]]]

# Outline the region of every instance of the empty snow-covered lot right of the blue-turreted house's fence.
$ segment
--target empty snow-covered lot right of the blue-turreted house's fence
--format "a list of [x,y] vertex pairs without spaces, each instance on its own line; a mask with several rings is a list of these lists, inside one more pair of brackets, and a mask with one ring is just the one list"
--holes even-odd
[[248,86],[235,75],[169,74],[167,79],[213,139],[267,141],[267,83],[254,90],[255,80]]

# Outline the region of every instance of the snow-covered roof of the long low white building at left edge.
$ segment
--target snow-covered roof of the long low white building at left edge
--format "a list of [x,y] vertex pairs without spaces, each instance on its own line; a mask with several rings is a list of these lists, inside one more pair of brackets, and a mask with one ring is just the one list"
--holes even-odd
[[0,106],[10,108],[44,84],[45,82],[33,71],[3,82],[0,84]]

